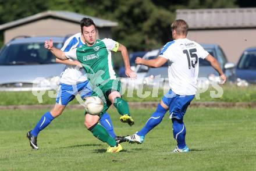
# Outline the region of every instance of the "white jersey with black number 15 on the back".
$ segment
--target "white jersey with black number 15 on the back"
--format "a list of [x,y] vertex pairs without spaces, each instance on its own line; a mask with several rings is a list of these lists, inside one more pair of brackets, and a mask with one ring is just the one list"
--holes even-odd
[[209,53],[197,42],[187,38],[168,42],[159,56],[168,59],[169,85],[179,95],[195,95],[197,92],[198,58]]

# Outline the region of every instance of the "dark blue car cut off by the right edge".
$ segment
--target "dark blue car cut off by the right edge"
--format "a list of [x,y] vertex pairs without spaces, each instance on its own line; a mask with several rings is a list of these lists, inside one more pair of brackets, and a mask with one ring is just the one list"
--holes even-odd
[[236,75],[240,80],[256,84],[256,47],[243,52],[236,66]]

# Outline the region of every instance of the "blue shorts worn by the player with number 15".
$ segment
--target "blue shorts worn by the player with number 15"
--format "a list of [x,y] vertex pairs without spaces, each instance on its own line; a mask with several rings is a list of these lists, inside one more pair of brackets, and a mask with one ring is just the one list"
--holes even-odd
[[172,92],[172,90],[169,90],[163,96],[162,101],[165,105],[169,106],[170,119],[176,118],[183,120],[187,107],[194,97],[195,95],[178,95]]

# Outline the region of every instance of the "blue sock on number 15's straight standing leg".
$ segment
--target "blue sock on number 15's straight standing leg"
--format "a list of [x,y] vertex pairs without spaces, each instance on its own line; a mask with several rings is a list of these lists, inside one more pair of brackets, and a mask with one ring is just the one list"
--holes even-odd
[[183,120],[173,118],[172,123],[173,138],[177,141],[178,148],[183,149],[186,146],[186,127]]

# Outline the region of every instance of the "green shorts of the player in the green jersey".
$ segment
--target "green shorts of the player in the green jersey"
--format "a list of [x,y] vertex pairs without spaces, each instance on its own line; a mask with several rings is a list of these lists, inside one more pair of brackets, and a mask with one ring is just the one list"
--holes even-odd
[[109,80],[105,84],[99,84],[93,88],[93,94],[91,96],[98,96],[104,103],[104,108],[99,114],[99,117],[108,111],[108,108],[112,105],[112,102],[108,99],[108,95],[113,91],[121,92],[121,82],[119,80]]

